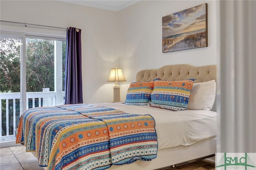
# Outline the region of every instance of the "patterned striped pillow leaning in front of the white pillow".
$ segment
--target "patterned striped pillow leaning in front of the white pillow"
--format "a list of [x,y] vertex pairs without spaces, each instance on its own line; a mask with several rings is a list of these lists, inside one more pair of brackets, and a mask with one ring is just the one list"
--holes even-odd
[[149,106],[184,111],[195,79],[182,81],[155,81]]

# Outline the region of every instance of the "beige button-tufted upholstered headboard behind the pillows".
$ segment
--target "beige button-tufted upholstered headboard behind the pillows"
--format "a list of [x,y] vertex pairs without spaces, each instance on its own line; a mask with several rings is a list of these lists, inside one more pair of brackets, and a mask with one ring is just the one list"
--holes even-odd
[[194,82],[216,81],[216,65],[192,66],[187,64],[165,65],[159,69],[139,71],[137,82],[144,82],[160,78],[164,81],[196,79]]

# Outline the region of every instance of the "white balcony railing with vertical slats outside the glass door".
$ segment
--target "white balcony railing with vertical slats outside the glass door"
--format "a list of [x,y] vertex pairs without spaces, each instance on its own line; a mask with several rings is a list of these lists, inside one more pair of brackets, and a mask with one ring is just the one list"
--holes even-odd
[[[64,92],[62,93],[64,97]],[[56,92],[27,92],[26,109],[55,106]],[[20,119],[20,93],[0,93],[0,141],[15,139],[15,128]]]

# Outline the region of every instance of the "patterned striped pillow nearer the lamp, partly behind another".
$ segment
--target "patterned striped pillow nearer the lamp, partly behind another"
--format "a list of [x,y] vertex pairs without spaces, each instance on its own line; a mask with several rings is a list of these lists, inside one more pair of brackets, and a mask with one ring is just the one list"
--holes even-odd
[[131,83],[124,103],[127,105],[147,105],[151,101],[153,88],[154,81]]

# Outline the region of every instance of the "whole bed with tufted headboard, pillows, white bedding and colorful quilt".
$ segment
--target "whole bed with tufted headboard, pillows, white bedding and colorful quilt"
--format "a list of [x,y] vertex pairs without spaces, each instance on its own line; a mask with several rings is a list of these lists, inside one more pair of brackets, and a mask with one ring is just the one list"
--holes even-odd
[[[145,95],[143,99],[138,97],[138,92],[134,92],[133,90],[131,90],[132,85],[134,85],[133,83],[131,83],[126,95],[125,103],[95,103],[90,105],[84,104],[82,105],[82,107],[80,107],[79,105],[63,105],[53,108],[40,108],[44,109],[44,111],[38,109],[34,109],[33,111],[33,109],[28,109],[27,111],[25,111],[27,113],[23,114],[27,116],[23,116],[20,119],[16,143],[24,144],[26,146],[26,151],[35,151],[35,155],[39,160],[39,165],[46,166],[45,163],[47,163],[49,169],[62,169],[64,167],[64,169],[109,168],[110,170],[164,170],[194,160],[208,158],[214,156],[216,152],[216,112],[212,111],[212,108],[214,108],[213,105],[216,91],[215,80],[216,65],[206,65],[199,67],[183,64],[166,65],[159,69],[142,70],[137,73],[137,84],[135,84],[142,85],[148,84],[148,82],[150,82],[150,85],[154,86],[153,88],[151,88],[151,91],[148,92],[148,87],[150,87],[148,85],[146,92],[143,92],[143,95]],[[190,90],[187,88],[185,91],[183,91],[184,93],[179,93],[182,94],[182,97],[174,98],[174,94],[176,97],[176,92],[173,93],[172,99],[170,95],[168,95],[169,91],[167,90],[168,92],[166,92],[166,88],[168,88],[169,86],[161,85],[161,83],[163,84],[163,82],[172,82],[172,85],[170,85],[172,86],[172,88],[173,86],[175,86],[175,84],[180,84],[179,86],[187,87],[190,87],[191,85],[191,87]],[[178,87],[175,88],[177,90]],[[138,90],[140,88],[135,89]],[[149,99],[148,97],[146,97],[149,96],[148,93],[152,94],[152,98]],[[132,99],[131,96],[135,97]],[[169,97],[170,101],[171,99],[176,99],[176,101],[180,100],[180,103],[176,102],[175,105],[169,105],[166,97]],[[186,103],[186,106],[184,106],[184,103]],[[88,107],[89,109],[94,111],[96,109],[97,112],[88,113],[85,107]],[[40,117],[40,114],[38,114],[41,112],[44,112],[44,114],[46,113],[46,115],[49,114],[47,109],[51,112],[50,114],[52,114],[52,111],[55,110],[56,112],[61,112],[62,114],[64,114],[63,109],[65,114],[69,114],[69,112],[75,112],[77,119],[79,119],[80,121],[81,116],[79,114],[92,118],[93,121],[89,122],[93,123],[94,127],[100,127],[102,132],[103,130],[108,130],[108,132],[106,132],[106,135],[109,136],[102,136],[100,140],[102,140],[103,138],[104,140],[109,138],[111,139],[108,144],[106,142],[104,143],[106,147],[110,146],[110,151],[105,149],[101,150],[102,152],[95,152],[93,153],[94,157],[90,158],[90,161],[88,161],[88,157],[85,158],[84,156],[84,159],[86,159],[87,162],[90,162],[90,166],[84,166],[82,164],[78,165],[76,163],[75,158],[73,159],[73,157],[76,157],[76,154],[78,154],[78,152],[68,155],[68,158],[62,161],[62,165],[51,165],[51,163],[49,162],[52,161],[44,159],[54,160],[55,162],[58,162],[56,161],[57,158],[62,159],[65,157],[65,153],[70,153],[71,151],[73,152],[73,150],[77,150],[79,149],[79,147],[76,148],[77,144],[74,145],[76,141],[74,138],[72,138],[72,140],[71,138],[69,138],[70,142],[72,142],[72,145],[68,146],[68,144],[65,143],[66,148],[60,150],[60,147],[63,146],[63,141],[58,142],[58,137],[61,136],[61,132],[59,132],[58,130],[63,130],[63,127],[59,127],[58,129],[55,128],[54,130],[56,132],[49,133],[50,128],[47,132],[44,132],[42,130],[44,129],[43,127],[40,127],[40,125],[36,126],[36,124],[40,123],[42,123],[42,126],[49,126],[48,124],[43,124],[45,123],[45,121],[40,121],[44,120],[46,116]],[[98,109],[100,109],[100,113],[98,112]],[[104,111],[102,111],[102,109]],[[107,115],[108,112],[110,112],[110,115]],[[33,116],[30,115],[31,113]],[[79,114],[77,115],[77,113]],[[28,117],[36,118],[34,118],[34,122],[32,122]],[[68,118],[68,115],[66,117]],[[97,118],[96,121],[94,118]],[[101,122],[98,122],[98,119],[100,119]],[[133,132],[129,131],[129,135],[124,129],[125,127],[127,128],[124,120],[128,120],[128,122],[130,123],[129,125],[131,125],[130,128],[134,128],[134,125],[136,125],[136,130],[134,130]],[[102,123],[102,121],[104,123]],[[119,123],[121,121],[121,124],[117,124],[116,121],[118,121]],[[76,123],[77,122],[69,126],[74,127],[74,124]],[[88,125],[88,121],[86,120],[86,123],[80,122],[79,125],[81,124]],[[27,127],[25,125],[27,125]],[[117,130],[120,130],[120,127],[124,127],[122,128],[124,129],[124,131],[122,131],[122,135],[124,136],[122,136],[121,133],[119,134],[114,133],[114,131],[112,132],[111,128],[113,126],[116,127]],[[130,128],[128,129],[131,130]],[[75,132],[73,130],[65,135],[71,135],[71,133]],[[140,136],[140,140],[136,142],[131,142],[129,139],[131,137],[131,133],[134,133],[132,135]],[[46,136],[46,134],[52,135],[47,138],[48,142],[38,141],[40,138],[39,136]],[[88,132],[82,134],[83,135],[81,136],[86,136]],[[118,135],[120,136],[116,137]],[[30,136],[30,138],[28,138],[28,136]],[[90,136],[92,136],[92,134],[90,134]],[[116,140],[116,138],[118,138],[118,140]],[[116,144],[116,142],[118,142],[120,138],[125,138],[125,140],[129,140],[130,142],[128,142],[127,144]],[[132,136],[132,138],[135,139],[134,136]],[[80,144],[81,143],[79,143],[78,145]],[[88,147],[90,149],[91,146]],[[98,147],[101,148],[101,144],[99,144]],[[62,154],[60,154],[60,152]],[[123,153],[120,154],[119,152]],[[126,152],[134,155],[129,156],[129,154],[126,154]],[[104,157],[104,159],[107,160],[105,161],[105,164],[101,162],[101,165],[97,165],[99,163],[97,162],[97,154],[101,156],[101,158]],[[70,160],[70,158],[72,158],[73,160]],[[100,159],[100,157],[98,157],[98,159]],[[63,164],[65,164],[65,161],[71,162],[69,163],[69,166],[63,166]],[[86,164],[86,161],[84,161],[84,164]]]

